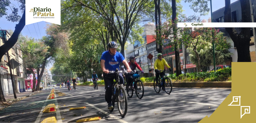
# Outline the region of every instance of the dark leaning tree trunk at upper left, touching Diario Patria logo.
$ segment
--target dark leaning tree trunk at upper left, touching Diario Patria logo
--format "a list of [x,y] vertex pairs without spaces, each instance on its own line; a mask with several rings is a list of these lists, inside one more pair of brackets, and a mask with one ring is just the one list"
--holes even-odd
[[25,26],[25,10],[26,10],[26,8],[24,9],[24,12],[22,14],[22,17],[21,17],[19,23],[16,24],[15,30],[14,30],[11,38],[9,38],[8,42],[4,43],[4,45],[0,46],[0,58],[2,58],[4,56],[4,54],[7,53],[17,42],[19,34]]

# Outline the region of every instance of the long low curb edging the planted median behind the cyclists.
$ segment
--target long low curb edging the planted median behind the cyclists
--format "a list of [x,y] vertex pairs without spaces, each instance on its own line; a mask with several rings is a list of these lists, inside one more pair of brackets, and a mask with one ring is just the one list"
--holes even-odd
[[[154,83],[143,83],[144,86],[154,86]],[[93,85],[77,85],[77,86],[93,86]],[[98,85],[105,86],[105,85]],[[191,87],[191,88],[231,88],[231,81],[224,82],[174,82],[173,87]]]

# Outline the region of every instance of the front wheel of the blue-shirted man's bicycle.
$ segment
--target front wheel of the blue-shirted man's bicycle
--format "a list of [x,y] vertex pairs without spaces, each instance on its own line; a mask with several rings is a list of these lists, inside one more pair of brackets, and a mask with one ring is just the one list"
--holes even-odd
[[120,86],[118,90],[117,106],[118,106],[119,113],[122,117],[124,117],[127,113],[127,107],[128,107],[127,105],[128,105],[127,96],[126,96],[124,87]]

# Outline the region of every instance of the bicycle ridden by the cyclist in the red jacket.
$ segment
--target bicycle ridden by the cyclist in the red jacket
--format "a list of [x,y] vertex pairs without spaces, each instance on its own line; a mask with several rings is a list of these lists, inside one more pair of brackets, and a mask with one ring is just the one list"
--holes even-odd
[[[139,72],[141,73],[141,72]],[[131,72],[131,74],[135,74],[135,72]],[[126,91],[127,95],[132,98],[133,91],[135,90],[135,93],[139,99],[141,99],[144,95],[144,86],[142,81],[139,79],[140,75],[138,74],[138,77],[134,77],[132,80],[132,83],[126,85]],[[141,92],[142,91],[142,92]],[[141,95],[139,95],[141,94]]]

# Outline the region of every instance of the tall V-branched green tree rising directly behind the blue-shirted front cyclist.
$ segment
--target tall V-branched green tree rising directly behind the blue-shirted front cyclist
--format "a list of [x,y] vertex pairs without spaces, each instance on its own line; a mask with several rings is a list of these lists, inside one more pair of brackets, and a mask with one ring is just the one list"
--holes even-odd
[[121,53],[124,54],[124,45],[131,34],[131,30],[136,28],[139,23],[147,22],[151,6],[150,0],[83,0],[75,2],[65,2],[70,4],[69,8],[82,6],[86,7],[101,16],[110,31],[110,37],[113,41],[118,41],[121,46]]

